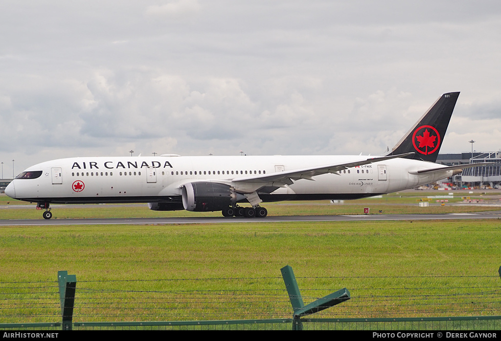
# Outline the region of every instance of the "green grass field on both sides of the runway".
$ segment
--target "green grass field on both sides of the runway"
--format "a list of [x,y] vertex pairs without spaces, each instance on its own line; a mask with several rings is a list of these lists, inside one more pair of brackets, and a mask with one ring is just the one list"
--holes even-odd
[[[418,207],[426,195],[266,207],[270,215],[493,209],[453,206],[458,196],[445,206]],[[40,219],[35,208],[10,207],[19,204],[26,203],[0,196],[0,219]],[[53,212],[58,218],[220,215],[146,205]],[[497,315],[500,248],[499,220],[4,226],[0,323],[60,320],[58,270],[77,276],[74,321],[290,317],[285,265],[293,267],[305,303],[350,290],[351,300],[317,317]]]

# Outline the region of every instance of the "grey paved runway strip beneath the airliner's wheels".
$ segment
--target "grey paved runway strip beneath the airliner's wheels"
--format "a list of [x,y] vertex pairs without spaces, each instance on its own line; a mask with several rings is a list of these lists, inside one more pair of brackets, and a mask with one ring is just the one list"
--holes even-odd
[[323,221],[375,221],[375,220],[446,220],[446,219],[501,219],[501,211],[447,214],[366,214],[366,215],[305,215],[270,216],[266,218],[241,217],[189,217],[189,218],[86,218],[86,219],[8,219],[0,226],[47,225],[165,225],[165,224],[222,224],[267,222],[323,222]]

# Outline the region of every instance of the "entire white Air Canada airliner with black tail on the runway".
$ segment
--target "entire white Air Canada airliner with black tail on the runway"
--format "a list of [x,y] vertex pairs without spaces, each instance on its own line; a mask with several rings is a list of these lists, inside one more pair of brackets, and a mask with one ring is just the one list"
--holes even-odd
[[[434,163],[459,92],[446,93],[383,156],[77,157],[39,163],[6,188],[14,198],[50,204],[148,203],[155,211],[221,211],[266,217],[262,202],[339,200],[413,188],[482,164]],[[238,204],[247,202],[250,207]]]

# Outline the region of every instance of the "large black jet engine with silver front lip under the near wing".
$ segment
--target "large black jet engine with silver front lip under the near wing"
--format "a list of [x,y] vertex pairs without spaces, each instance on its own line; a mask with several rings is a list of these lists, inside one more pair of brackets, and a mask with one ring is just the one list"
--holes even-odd
[[182,185],[183,207],[188,211],[220,211],[245,199],[231,186],[217,182],[197,181]]

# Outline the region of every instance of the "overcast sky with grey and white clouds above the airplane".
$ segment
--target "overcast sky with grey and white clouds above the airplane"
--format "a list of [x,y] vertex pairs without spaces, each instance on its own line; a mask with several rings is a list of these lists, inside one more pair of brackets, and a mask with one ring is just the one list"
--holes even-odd
[[499,1],[2,1],[4,177],[73,156],[381,154],[443,93],[501,148]]

